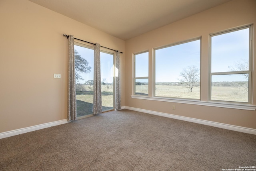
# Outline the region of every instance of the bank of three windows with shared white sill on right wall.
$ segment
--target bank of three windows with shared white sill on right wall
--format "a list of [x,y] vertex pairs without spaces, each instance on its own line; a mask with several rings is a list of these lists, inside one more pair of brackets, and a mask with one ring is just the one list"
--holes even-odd
[[[134,54],[132,98],[255,110],[253,102],[253,26],[212,33],[156,47],[152,68],[148,52]],[[201,44],[209,55],[201,63]],[[208,45],[208,46],[207,46]],[[201,69],[209,68],[201,77]],[[206,67],[207,66],[207,67]],[[148,86],[148,71],[153,71]],[[201,85],[202,78],[204,84]],[[208,84],[206,84],[208,82]],[[152,94],[148,93],[148,88]],[[152,89],[151,89],[152,88]],[[202,89],[202,90],[201,90]],[[201,96],[201,92],[206,93]],[[147,95],[147,96],[138,96]],[[208,95],[208,99],[205,99]],[[202,99],[201,99],[202,97]]]

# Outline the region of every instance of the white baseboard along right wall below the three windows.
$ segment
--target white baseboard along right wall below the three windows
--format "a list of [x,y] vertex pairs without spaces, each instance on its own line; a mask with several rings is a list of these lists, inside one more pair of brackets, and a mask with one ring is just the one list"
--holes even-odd
[[197,124],[214,126],[214,127],[223,128],[223,129],[226,129],[226,130],[233,130],[233,131],[244,132],[244,133],[247,133],[247,134],[256,135],[256,129],[252,129],[252,128],[246,128],[246,127],[242,127],[242,126],[235,126],[235,125],[229,125],[229,124],[222,124],[222,123],[212,122],[212,121],[208,121],[208,120],[189,118],[189,117],[185,117],[185,116],[178,116],[178,115],[167,114],[167,113],[162,113],[162,112],[155,112],[155,111],[152,111],[152,110],[133,108],[133,107],[129,107],[129,106],[124,106],[124,108],[128,109],[128,110],[134,110],[134,111],[138,111],[138,112],[154,114],[154,115],[158,115],[158,116],[164,116],[164,117],[167,117],[167,118],[184,120],[184,121],[188,121],[188,122],[194,122],[194,123],[197,123]]

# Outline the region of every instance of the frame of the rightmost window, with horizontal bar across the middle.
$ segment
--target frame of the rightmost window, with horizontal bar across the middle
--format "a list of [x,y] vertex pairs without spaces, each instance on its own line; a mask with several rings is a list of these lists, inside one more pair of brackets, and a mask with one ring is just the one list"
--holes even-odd
[[[226,72],[212,72],[212,37],[223,35],[226,33],[231,33],[234,31],[239,31],[242,29],[249,29],[249,57],[248,57],[248,71],[226,71]],[[208,87],[208,101],[210,102],[223,102],[231,104],[252,104],[252,25],[227,29],[224,31],[219,31],[217,33],[209,34],[209,87]],[[236,101],[226,101],[226,100],[212,100],[212,76],[214,75],[232,75],[232,74],[248,74],[248,102],[236,102]]]

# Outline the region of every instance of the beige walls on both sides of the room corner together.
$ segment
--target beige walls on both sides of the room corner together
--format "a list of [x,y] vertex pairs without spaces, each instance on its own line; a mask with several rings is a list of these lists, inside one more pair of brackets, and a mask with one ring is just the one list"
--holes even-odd
[[[63,33],[125,51],[120,57],[122,106],[256,129],[256,111],[140,100],[130,96],[132,53],[149,50],[152,82],[152,48],[202,36],[201,99],[207,101],[209,33],[255,24],[255,9],[255,0],[233,0],[124,42],[30,1],[1,0],[0,133],[66,119],[68,49]],[[254,49],[255,42],[254,34]],[[53,79],[54,73],[61,74],[62,78]],[[253,81],[255,86],[256,74],[253,74]],[[256,105],[255,89],[253,98]],[[173,104],[176,110],[172,110]]]

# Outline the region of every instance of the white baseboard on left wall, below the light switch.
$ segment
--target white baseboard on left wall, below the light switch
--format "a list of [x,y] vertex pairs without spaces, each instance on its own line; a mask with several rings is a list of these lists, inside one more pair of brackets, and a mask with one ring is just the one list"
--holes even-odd
[[26,127],[26,128],[21,128],[21,129],[18,129],[18,130],[2,132],[2,133],[0,133],[0,139],[11,137],[11,136],[16,136],[16,135],[19,135],[19,134],[24,134],[24,133],[32,132],[32,131],[36,131],[36,130],[41,130],[41,129],[49,128],[49,127],[52,127],[52,126],[66,124],[66,123],[68,123],[68,121],[66,119],[64,119],[64,120],[58,120],[58,121],[49,122],[49,123],[45,123],[45,124],[30,126],[30,127]]

